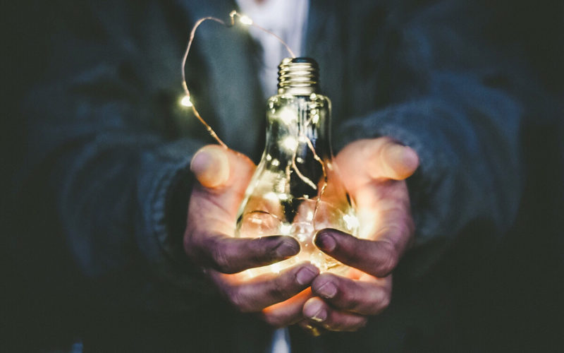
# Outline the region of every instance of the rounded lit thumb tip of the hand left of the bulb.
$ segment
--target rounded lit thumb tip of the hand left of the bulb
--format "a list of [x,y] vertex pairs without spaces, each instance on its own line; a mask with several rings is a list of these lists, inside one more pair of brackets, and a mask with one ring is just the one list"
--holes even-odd
[[230,166],[226,148],[207,145],[196,152],[190,170],[197,181],[206,188],[216,189],[229,180]]

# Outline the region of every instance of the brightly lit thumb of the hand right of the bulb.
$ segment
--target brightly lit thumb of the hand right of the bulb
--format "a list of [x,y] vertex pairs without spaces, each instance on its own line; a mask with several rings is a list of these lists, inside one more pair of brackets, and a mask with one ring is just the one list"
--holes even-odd
[[[419,157],[412,148],[384,137],[350,143],[337,155],[337,163],[339,170],[347,174],[345,179],[356,185],[371,179],[406,179],[419,166]],[[358,173],[359,165],[365,167],[365,173]]]

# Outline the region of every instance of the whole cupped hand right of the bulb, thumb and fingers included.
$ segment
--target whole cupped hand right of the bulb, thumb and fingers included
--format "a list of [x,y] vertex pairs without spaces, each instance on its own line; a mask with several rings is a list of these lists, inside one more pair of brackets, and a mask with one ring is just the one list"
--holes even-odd
[[312,298],[300,325],[354,331],[391,301],[391,272],[413,237],[414,223],[405,179],[419,166],[414,150],[391,138],[357,140],[336,157],[345,186],[355,200],[360,237],[323,229],[315,244],[349,265],[346,276],[322,273],[312,282]]

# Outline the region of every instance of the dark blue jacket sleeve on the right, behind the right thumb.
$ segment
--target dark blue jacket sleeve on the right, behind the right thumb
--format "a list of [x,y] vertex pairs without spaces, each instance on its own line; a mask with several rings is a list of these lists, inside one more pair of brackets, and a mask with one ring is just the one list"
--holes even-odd
[[477,7],[439,1],[391,11],[371,86],[379,107],[338,127],[340,147],[391,136],[417,151],[420,167],[408,180],[415,249],[440,244],[442,253],[475,222],[489,225],[491,243],[517,213],[525,108],[513,78],[525,73],[484,39]]

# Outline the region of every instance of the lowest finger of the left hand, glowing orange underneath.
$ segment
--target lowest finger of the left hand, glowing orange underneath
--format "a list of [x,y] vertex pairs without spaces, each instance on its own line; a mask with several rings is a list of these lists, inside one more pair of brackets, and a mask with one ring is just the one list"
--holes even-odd
[[290,299],[264,308],[261,313],[262,319],[277,328],[298,323],[304,319],[302,308],[311,297],[312,289],[308,287]]

